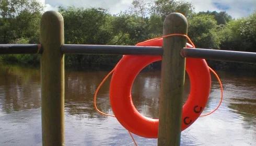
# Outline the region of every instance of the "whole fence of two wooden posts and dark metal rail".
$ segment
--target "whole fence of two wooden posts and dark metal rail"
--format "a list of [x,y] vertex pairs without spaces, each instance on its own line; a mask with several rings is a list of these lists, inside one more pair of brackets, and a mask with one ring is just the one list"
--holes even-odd
[[[167,16],[164,35],[187,34],[187,29],[187,19],[183,15],[172,13]],[[41,44],[0,44],[0,54],[42,54],[43,145],[65,143],[64,54],[163,55],[158,145],[180,145],[184,57],[256,64],[256,53],[186,48],[186,39],[180,36],[163,38],[163,47],[64,44],[63,18],[56,11],[43,14],[40,42]],[[171,89],[176,89],[176,92],[168,92]]]

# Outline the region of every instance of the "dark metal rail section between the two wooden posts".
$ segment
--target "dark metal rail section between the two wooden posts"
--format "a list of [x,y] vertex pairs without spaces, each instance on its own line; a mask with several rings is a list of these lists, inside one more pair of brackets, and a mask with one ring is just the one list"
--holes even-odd
[[74,45],[64,44],[61,50],[65,54],[110,54],[110,55],[162,55],[159,46],[126,46],[126,45]]

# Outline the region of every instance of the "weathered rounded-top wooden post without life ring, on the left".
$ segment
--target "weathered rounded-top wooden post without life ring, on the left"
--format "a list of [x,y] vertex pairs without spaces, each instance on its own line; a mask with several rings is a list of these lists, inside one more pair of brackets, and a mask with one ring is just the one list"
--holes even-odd
[[64,44],[63,17],[46,11],[41,18],[42,143],[64,144]]

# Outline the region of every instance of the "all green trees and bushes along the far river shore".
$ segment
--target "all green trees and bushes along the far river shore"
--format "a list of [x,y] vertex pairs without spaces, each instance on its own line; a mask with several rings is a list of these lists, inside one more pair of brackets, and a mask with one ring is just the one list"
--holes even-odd
[[[0,1],[0,43],[38,44],[44,6],[34,0]],[[59,7],[64,18],[65,44],[135,45],[162,35],[165,17],[182,13],[189,23],[188,35],[199,48],[256,52],[256,12],[234,19],[225,11],[196,13],[188,2],[134,0],[130,9],[111,15],[103,8]],[[122,56],[65,55],[67,66],[111,68]],[[0,62],[38,66],[40,55],[0,55]],[[215,69],[254,70],[255,65],[208,61]],[[160,68],[152,64],[150,69]]]

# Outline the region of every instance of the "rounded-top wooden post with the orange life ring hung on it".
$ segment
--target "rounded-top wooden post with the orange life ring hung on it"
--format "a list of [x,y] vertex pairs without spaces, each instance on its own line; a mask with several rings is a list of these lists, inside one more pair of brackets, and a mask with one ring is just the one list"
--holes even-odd
[[[164,35],[188,33],[187,19],[179,13],[168,15],[164,22]],[[185,59],[180,50],[186,45],[183,36],[164,38],[159,100],[158,145],[180,145],[182,92],[185,76]]]

